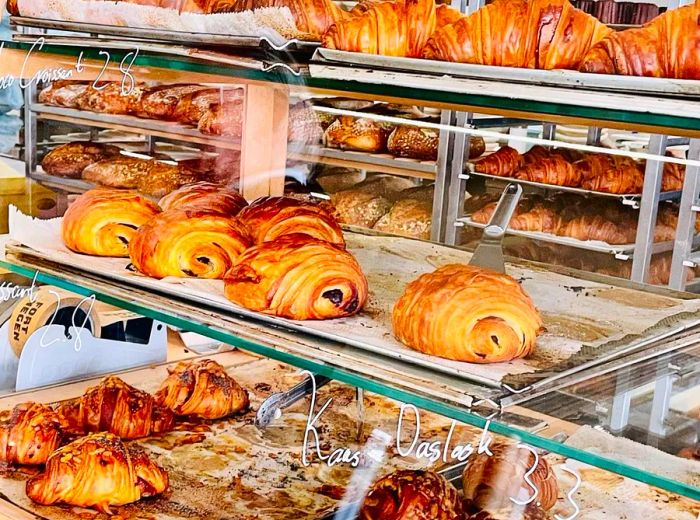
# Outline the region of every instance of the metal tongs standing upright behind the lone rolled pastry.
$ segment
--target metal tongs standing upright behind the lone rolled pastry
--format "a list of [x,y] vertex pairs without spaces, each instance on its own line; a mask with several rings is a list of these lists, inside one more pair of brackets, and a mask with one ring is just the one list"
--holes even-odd
[[508,184],[503,190],[496,211],[493,212],[491,220],[484,228],[484,234],[481,236],[479,245],[476,246],[469,265],[484,267],[499,273],[506,272],[503,259],[503,237],[515,208],[518,207],[522,193],[522,187],[513,183]]

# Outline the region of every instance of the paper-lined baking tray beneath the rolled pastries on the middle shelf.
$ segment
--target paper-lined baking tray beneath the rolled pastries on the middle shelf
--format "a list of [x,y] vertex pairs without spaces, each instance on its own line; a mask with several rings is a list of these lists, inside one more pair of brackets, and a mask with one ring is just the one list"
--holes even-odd
[[[231,303],[223,295],[220,280],[154,280],[127,269],[128,259],[72,253],[60,238],[60,223],[61,219],[33,220],[11,208],[10,236],[25,244],[19,249],[12,247],[12,253],[21,254],[24,264],[36,257],[71,266],[120,285],[185,299],[195,306],[206,305],[217,312],[350,345],[413,367],[425,367],[508,392],[524,391],[533,380],[557,380],[597,363],[649,348],[700,324],[700,300],[690,295],[680,298],[681,293],[665,292],[665,296],[641,293],[509,264],[509,274],[522,281],[543,313],[548,332],[538,338],[537,349],[527,359],[486,365],[451,361],[414,351],[394,339],[391,309],[407,283],[440,265],[468,263],[471,254],[466,251],[406,238],[346,233],[348,250],[356,256],[369,281],[370,298],[365,309],[347,318],[300,322],[256,313]],[[615,317],[614,322],[610,321],[611,316]],[[566,367],[559,370],[563,364]],[[526,382],[521,384],[521,379]]]

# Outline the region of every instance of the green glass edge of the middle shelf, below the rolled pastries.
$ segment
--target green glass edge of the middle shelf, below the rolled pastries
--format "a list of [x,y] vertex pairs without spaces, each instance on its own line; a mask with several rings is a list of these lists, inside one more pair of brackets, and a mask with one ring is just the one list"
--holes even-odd
[[[116,298],[108,294],[95,293],[91,289],[75,285],[54,275],[43,273],[41,271],[34,271],[32,269],[23,266],[18,266],[7,261],[0,260],[0,267],[8,269],[19,275],[25,276],[29,279],[32,279],[36,275],[37,280],[42,283],[47,283],[57,287],[61,287],[63,289],[75,292],[77,294],[81,294],[83,296],[91,296],[94,294],[98,300],[108,303],[110,305],[114,305],[115,307],[120,307],[122,309],[135,312],[148,318],[157,319],[168,325],[186,329],[197,334],[201,334],[202,336],[206,336],[217,341],[233,345],[235,347],[240,348],[241,350],[246,350],[254,354],[258,354],[270,359],[274,359],[276,361],[287,363],[289,365],[304,370],[309,370],[313,373],[320,374],[331,379],[335,379],[342,383],[346,383],[352,386],[363,388],[370,392],[384,395],[391,399],[395,399],[399,402],[413,404],[420,409],[428,410],[449,417],[451,419],[463,422],[465,424],[475,426],[477,428],[484,428],[484,426],[487,423],[487,419],[477,414],[468,412],[465,409],[459,408],[457,406],[443,403],[440,401],[435,401],[420,395],[415,395],[405,390],[400,390],[398,388],[386,386],[384,384],[378,383],[377,381],[366,379],[352,372],[346,372],[344,370],[329,367],[322,363],[310,361],[304,358],[299,358],[286,352],[280,352],[274,349],[273,347],[261,345],[250,340],[239,338],[226,331],[213,329],[204,324],[189,321],[186,318],[183,318],[176,314],[169,314],[164,311],[154,310],[149,307],[140,305],[138,303],[129,302],[127,300]],[[675,480],[660,475],[647,473],[628,464],[623,464],[621,462],[607,459],[594,453],[579,450],[577,448],[567,446],[565,444],[551,439],[539,437],[533,433],[529,433],[518,428],[508,426],[506,424],[491,421],[489,424],[489,431],[498,433],[500,435],[505,435],[507,437],[519,439],[521,442],[529,444],[530,446],[554,452],[563,457],[575,459],[585,464],[589,464],[591,466],[611,471],[613,473],[629,477],[633,480],[637,480],[645,484],[649,484],[650,486],[665,489],[666,491],[683,495],[693,500],[700,500],[700,488],[696,488],[682,482],[677,482]]]

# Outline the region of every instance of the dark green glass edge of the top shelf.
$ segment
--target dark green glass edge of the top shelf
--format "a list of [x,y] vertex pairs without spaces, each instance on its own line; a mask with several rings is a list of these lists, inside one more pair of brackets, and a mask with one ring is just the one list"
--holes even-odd
[[[24,42],[5,42],[8,48],[16,48],[27,50],[31,48],[29,43]],[[98,50],[87,47],[73,47],[65,45],[48,45],[44,48],[51,48],[51,52],[55,54],[77,56],[80,52],[84,52],[86,57],[103,59],[98,55]],[[112,61],[119,63],[123,57],[130,51],[110,49]],[[44,51],[42,51],[44,52]],[[700,122],[694,118],[660,115],[660,114],[644,114],[640,112],[628,112],[624,110],[606,110],[593,107],[577,107],[573,105],[563,105],[558,103],[548,103],[544,101],[530,101],[519,99],[508,99],[488,95],[475,94],[459,94],[456,92],[444,92],[437,90],[427,90],[413,87],[402,87],[397,89],[395,86],[377,85],[371,83],[361,83],[357,81],[340,81],[314,78],[309,75],[297,77],[282,69],[275,69],[270,72],[262,72],[259,70],[216,66],[206,62],[185,58],[182,56],[161,55],[156,53],[140,54],[135,65],[138,66],[153,66],[171,70],[180,70],[188,72],[200,72],[205,74],[219,74],[224,76],[275,82],[288,85],[308,86],[310,88],[319,88],[327,90],[338,90],[347,93],[362,93],[382,96],[400,96],[402,98],[412,99],[415,101],[432,101],[441,103],[450,103],[455,105],[466,105],[469,107],[480,107],[484,109],[497,110],[515,110],[519,112],[528,112],[532,114],[549,115],[549,116],[566,116],[589,119],[593,121],[613,121],[617,123],[640,124],[645,126],[658,126],[663,128],[676,128],[678,130],[700,130]]]

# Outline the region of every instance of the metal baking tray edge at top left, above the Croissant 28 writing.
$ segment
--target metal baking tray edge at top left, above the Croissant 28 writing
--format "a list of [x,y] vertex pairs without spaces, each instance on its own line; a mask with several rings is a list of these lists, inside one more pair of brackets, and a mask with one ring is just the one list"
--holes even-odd
[[203,34],[183,31],[171,31],[167,29],[144,29],[137,27],[121,27],[117,25],[103,25],[84,22],[70,22],[63,20],[43,20],[40,18],[28,18],[24,16],[11,16],[10,23],[24,27],[37,27],[58,31],[70,31],[77,33],[99,34],[105,36],[118,36],[139,42],[153,41],[170,43],[175,45],[203,46],[203,47],[237,47],[246,49],[262,49],[266,51],[298,51],[312,53],[319,45],[316,41],[298,39],[274,41],[265,36],[231,36],[226,34]]

